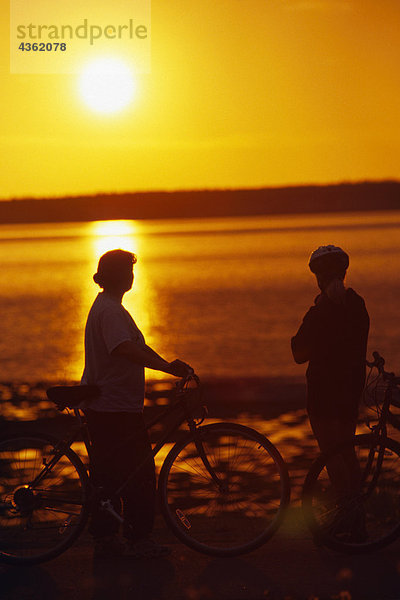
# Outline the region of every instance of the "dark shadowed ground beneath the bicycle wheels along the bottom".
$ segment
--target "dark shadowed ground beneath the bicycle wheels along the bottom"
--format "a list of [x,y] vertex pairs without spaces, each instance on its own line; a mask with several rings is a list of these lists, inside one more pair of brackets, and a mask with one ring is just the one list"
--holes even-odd
[[84,534],[66,553],[35,567],[0,567],[2,600],[398,600],[400,543],[365,556],[317,548],[298,508],[265,546],[221,559],[183,546],[158,523],[172,548],[148,561],[93,559]]

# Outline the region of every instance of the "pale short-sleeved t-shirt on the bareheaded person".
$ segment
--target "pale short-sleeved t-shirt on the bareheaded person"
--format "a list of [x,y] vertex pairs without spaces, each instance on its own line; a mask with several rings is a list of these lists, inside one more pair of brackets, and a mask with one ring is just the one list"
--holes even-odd
[[100,396],[86,407],[105,412],[142,412],[144,367],[111,352],[122,342],[145,346],[144,337],[128,311],[101,292],[93,302],[85,328],[85,369],[82,384],[100,388]]

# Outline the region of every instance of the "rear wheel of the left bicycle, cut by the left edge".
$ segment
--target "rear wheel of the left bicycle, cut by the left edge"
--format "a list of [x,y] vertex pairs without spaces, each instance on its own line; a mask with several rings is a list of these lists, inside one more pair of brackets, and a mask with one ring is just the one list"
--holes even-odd
[[47,435],[0,440],[0,561],[44,562],[66,550],[88,517],[88,478],[78,456]]

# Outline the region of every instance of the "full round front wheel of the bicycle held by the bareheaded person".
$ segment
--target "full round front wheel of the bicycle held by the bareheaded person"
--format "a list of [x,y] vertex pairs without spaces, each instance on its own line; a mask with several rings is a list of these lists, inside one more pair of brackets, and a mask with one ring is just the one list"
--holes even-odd
[[175,444],[161,469],[159,493],[167,524],[185,544],[235,556],[274,534],[290,484],[267,438],[249,427],[215,423]]

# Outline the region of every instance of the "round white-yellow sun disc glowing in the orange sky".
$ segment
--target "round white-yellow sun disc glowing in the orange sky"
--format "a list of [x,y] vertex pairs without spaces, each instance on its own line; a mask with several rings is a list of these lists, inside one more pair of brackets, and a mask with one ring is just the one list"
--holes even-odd
[[87,63],[79,77],[79,93],[85,104],[98,113],[125,108],[136,92],[134,74],[118,58],[98,58]]

